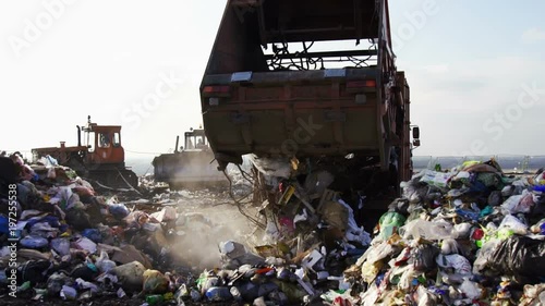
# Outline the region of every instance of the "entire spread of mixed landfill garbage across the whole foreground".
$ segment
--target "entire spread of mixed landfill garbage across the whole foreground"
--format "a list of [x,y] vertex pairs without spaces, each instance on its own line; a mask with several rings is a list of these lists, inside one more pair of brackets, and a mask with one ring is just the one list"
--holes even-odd
[[[380,217],[374,235],[356,222],[364,197],[349,201],[332,189],[337,173],[314,170],[298,181],[287,179],[287,168],[261,167],[266,175],[239,178],[257,180],[254,197],[262,198],[258,212],[245,210],[247,223],[257,228],[252,238],[204,213],[180,216],[168,205],[186,205],[203,193],[161,193],[129,209],[119,197],[98,195],[70,169],[27,166],[16,157],[1,159],[0,167],[2,296],[14,291],[36,301],[111,297],[137,305],[545,302],[544,173],[508,178],[494,160],[415,174],[401,184],[402,197]],[[8,241],[11,201],[3,192],[12,183],[16,256]],[[241,210],[244,192],[229,192]],[[148,201],[162,206],[146,211]],[[198,232],[223,240],[217,265],[195,273],[173,258],[191,247],[174,254],[171,246]]]

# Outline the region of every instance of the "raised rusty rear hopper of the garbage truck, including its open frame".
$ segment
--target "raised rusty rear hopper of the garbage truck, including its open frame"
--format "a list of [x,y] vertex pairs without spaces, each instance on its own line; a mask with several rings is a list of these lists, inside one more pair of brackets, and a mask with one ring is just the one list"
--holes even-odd
[[[385,51],[390,45],[389,28],[384,26],[388,19],[385,1],[376,0],[228,1],[201,85],[202,90],[208,85],[231,89],[230,97],[219,97],[214,105],[208,96],[202,99],[213,149],[234,156],[269,152],[286,147],[288,142],[296,146],[298,155],[358,151],[379,156],[383,166],[387,166],[385,132],[395,127],[395,113],[387,112],[384,118],[382,114],[386,90],[383,78],[395,71],[391,56]],[[334,74],[308,66],[300,71],[269,68],[271,56],[262,50],[264,42],[363,38],[378,41],[378,49],[372,54],[378,57],[376,65],[347,68]],[[347,56],[356,51],[303,56],[288,52],[281,57],[303,61],[299,57]],[[238,72],[245,72],[249,77],[232,83],[232,73]],[[367,88],[356,85],[355,90],[347,89],[349,82],[366,81],[376,83]],[[310,138],[301,132],[301,121],[308,118],[320,126],[319,133]]]

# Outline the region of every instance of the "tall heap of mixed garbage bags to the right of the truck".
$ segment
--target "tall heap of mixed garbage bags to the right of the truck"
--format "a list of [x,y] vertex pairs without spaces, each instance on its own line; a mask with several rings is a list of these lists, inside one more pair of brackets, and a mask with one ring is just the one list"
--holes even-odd
[[379,234],[344,272],[361,305],[544,305],[544,173],[465,162],[402,183]]

